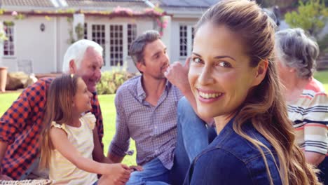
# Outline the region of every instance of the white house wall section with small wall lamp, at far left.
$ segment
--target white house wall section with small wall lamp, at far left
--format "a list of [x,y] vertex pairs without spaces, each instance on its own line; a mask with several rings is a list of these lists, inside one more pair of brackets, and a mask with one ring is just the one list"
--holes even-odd
[[[18,60],[32,60],[32,72],[36,74],[55,71],[55,21],[44,17],[14,20],[11,16],[4,20],[12,20],[15,24],[15,55],[3,57],[3,64],[8,67],[8,71],[17,71]],[[40,29],[41,23],[45,25],[43,32]]]

